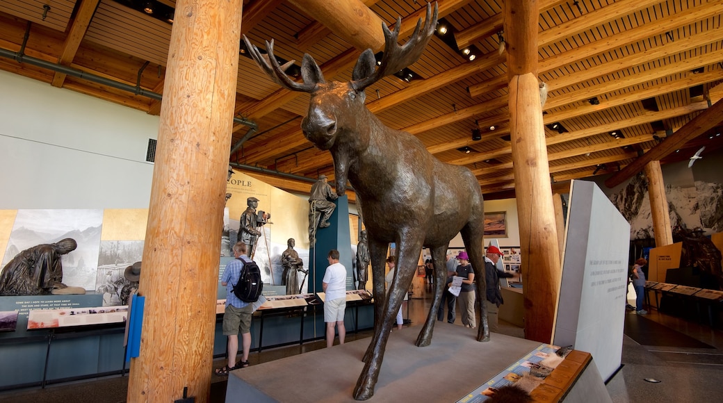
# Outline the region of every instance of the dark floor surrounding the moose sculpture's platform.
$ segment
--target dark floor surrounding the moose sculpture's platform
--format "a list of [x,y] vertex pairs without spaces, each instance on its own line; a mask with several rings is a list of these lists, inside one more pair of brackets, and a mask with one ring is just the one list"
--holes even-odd
[[[419,280],[419,279],[417,279]],[[405,316],[411,326],[421,326],[427,315],[431,300],[426,287],[415,287],[416,295],[409,301]],[[628,313],[628,315],[635,315]],[[631,318],[633,319],[633,318]],[[666,326],[667,332],[680,332],[713,348],[692,348],[638,343],[628,336],[623,338],[623,366],[607,383],[607,391],[613,402],[719,402],[723,396],[723,332],[701,326],[695,322],[667,316],[651,310],[646,319]],[[461,326],[460,319],[455,325]],[[403,329],[403,331],[412,329]],[[462,329],[461,329],[462,330]],[[500,323],[500,333],[523,337],[523,329],[506,322]],[[349,334],[347,341],[364,339],[371,332]],[[656,337],[651,335],[651,337]],[[654,343],[651,343],[654,344]],[[325,342],[310,342],[301,346],[281,347],[252,352],[253,365],[266,363],[292,355],[303,354],[325,347]],[[511,358],[510,360],[515,360]],[[223,366],[224,360],[215,360],[215,368]],[[645,378],[655,378],[650,383]],[[73,384],[46,386],[46,389],[27,389],[0,393],[0,402],[28,403],[118,403],[125,402],[127,376],[100,378]],[[224,402],[226,377],[212,376],[211,402]],[[374,400],[374,399],[372,399]]]

